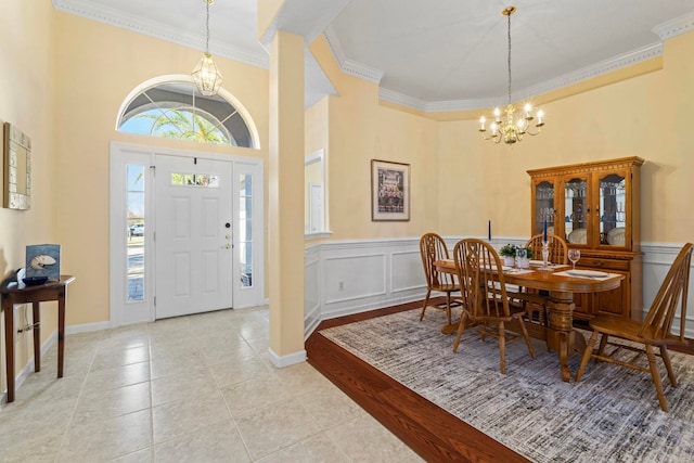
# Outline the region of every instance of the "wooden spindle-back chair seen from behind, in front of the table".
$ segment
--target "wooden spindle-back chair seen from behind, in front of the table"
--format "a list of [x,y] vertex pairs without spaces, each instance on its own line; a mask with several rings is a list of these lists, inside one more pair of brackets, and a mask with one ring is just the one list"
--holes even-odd
[[506,342],[518,337],[506,331],[506,323],[517,322],[530,357],[535,359],[535,349],[523,321],[526,310],[510,306],[501,259],[494,248],[481,240],[461,240],[453,249],[453,259],[463,303],[453,352],[458,352],[465,329],[473,326],[481,334],[483,342],[487,336],[499,339],[499,362],[501,373],[505,373]]

